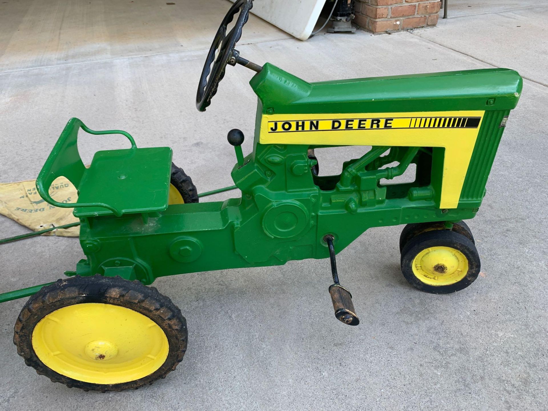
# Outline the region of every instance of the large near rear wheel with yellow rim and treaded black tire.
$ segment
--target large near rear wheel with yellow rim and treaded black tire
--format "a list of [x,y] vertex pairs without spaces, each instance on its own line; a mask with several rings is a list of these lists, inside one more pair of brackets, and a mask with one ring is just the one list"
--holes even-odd
[[164,378],[186,351],[185,317],[153,287],[72,277],[27,301],[14,328],[27,366],[54,383],[122,391]]

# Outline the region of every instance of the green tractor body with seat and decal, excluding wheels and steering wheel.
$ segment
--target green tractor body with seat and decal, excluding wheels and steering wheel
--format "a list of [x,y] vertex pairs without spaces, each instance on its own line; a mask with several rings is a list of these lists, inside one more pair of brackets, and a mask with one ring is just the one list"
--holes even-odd
[[[168,206],[167,147],[101,151],[85,169],[76,149],[85,126],[67,124],[37,180],[45,199],[81,219],[87,259],[67,274],[150,284],[327,258],[328,234],[339,252],[370,227],[473,218],[522,89],[506,69],[307,83],[270,64],[250,84],[259,97],[253,152],[232,169],[242,197],[224,202]],[[340,175],[313,173],[310,149],[349,145],[372,149]],[[413,182],[381,184],[411,163]],[[49,197],[60,175],[78,188],[77,204]]]

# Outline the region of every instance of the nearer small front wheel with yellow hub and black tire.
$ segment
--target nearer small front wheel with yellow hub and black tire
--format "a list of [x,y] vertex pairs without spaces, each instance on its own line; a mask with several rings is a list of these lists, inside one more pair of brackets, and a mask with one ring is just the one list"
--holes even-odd
[[466,288],[479,274],[476,246],[469,238],[450,230],[427,231],[403,248],[403,276],[412,286],[433,294]]

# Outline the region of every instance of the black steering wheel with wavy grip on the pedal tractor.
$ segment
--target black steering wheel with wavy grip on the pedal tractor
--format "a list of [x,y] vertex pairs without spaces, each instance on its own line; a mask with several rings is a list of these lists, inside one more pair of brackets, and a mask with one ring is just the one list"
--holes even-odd
[[[239,62],[239,53],[234,48],[240,37],[242,37],[242,28],[247,23],[249,10],[252,7],[253,0],[236,0],[229,12],[226,13],[225,18],[222,19],[219,30],[217,30],[213,43],[209,48],[206,64],[204,64],[202,76],[198,84],[196,108],[199,111],[206,111],[206,107],[211,103],[211,99],[217,92],[219,82],[225,76],[226,65],[231,64],[234,66]],[[236,24],[229,33],[226,33],[228,25],[232,22],[234,15],[238,11],[239,15]]]

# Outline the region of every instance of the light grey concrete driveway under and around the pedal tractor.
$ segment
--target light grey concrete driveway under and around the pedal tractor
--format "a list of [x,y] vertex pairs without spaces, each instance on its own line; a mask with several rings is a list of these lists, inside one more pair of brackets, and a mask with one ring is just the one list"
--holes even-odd
[[[197,112],[206,48],[230,3],[174,2],[0,4],[3,182],[35,178],[68,118],[79,117],[93,129],[127,130],[141,146],[173,147],[198,191],[232,184],[226,132],[242,129],[244,153],[252,149],[253,72],[229,67],[213,104]],[[482,258],[471,287],[453,295],[410,287],[399,271],[401,227],[370,230],[338,256],[359,327],[333,317],[324,260],[159,279],[155,286],[189,323],[185,359],[152,386],[104,394],[53,384],[26,367],[12,344],[24,300],[7,302],[0,409],[546,409],[548,2],[450,3],[454,18],[436,28],[307,42],[252,17],[238,49],[307,81],[484,67],[526,78],[487,196],[469,222]],[[483,9],[466,13],[468,3]],[[84,162],[122,141],[85,139]],[[340,170],[349,150],[326,153],[322,167]],[[2,237],[26,231],[0,218]],[[54,281],[82,256],[76,238],[3,244],[0,292]]]

